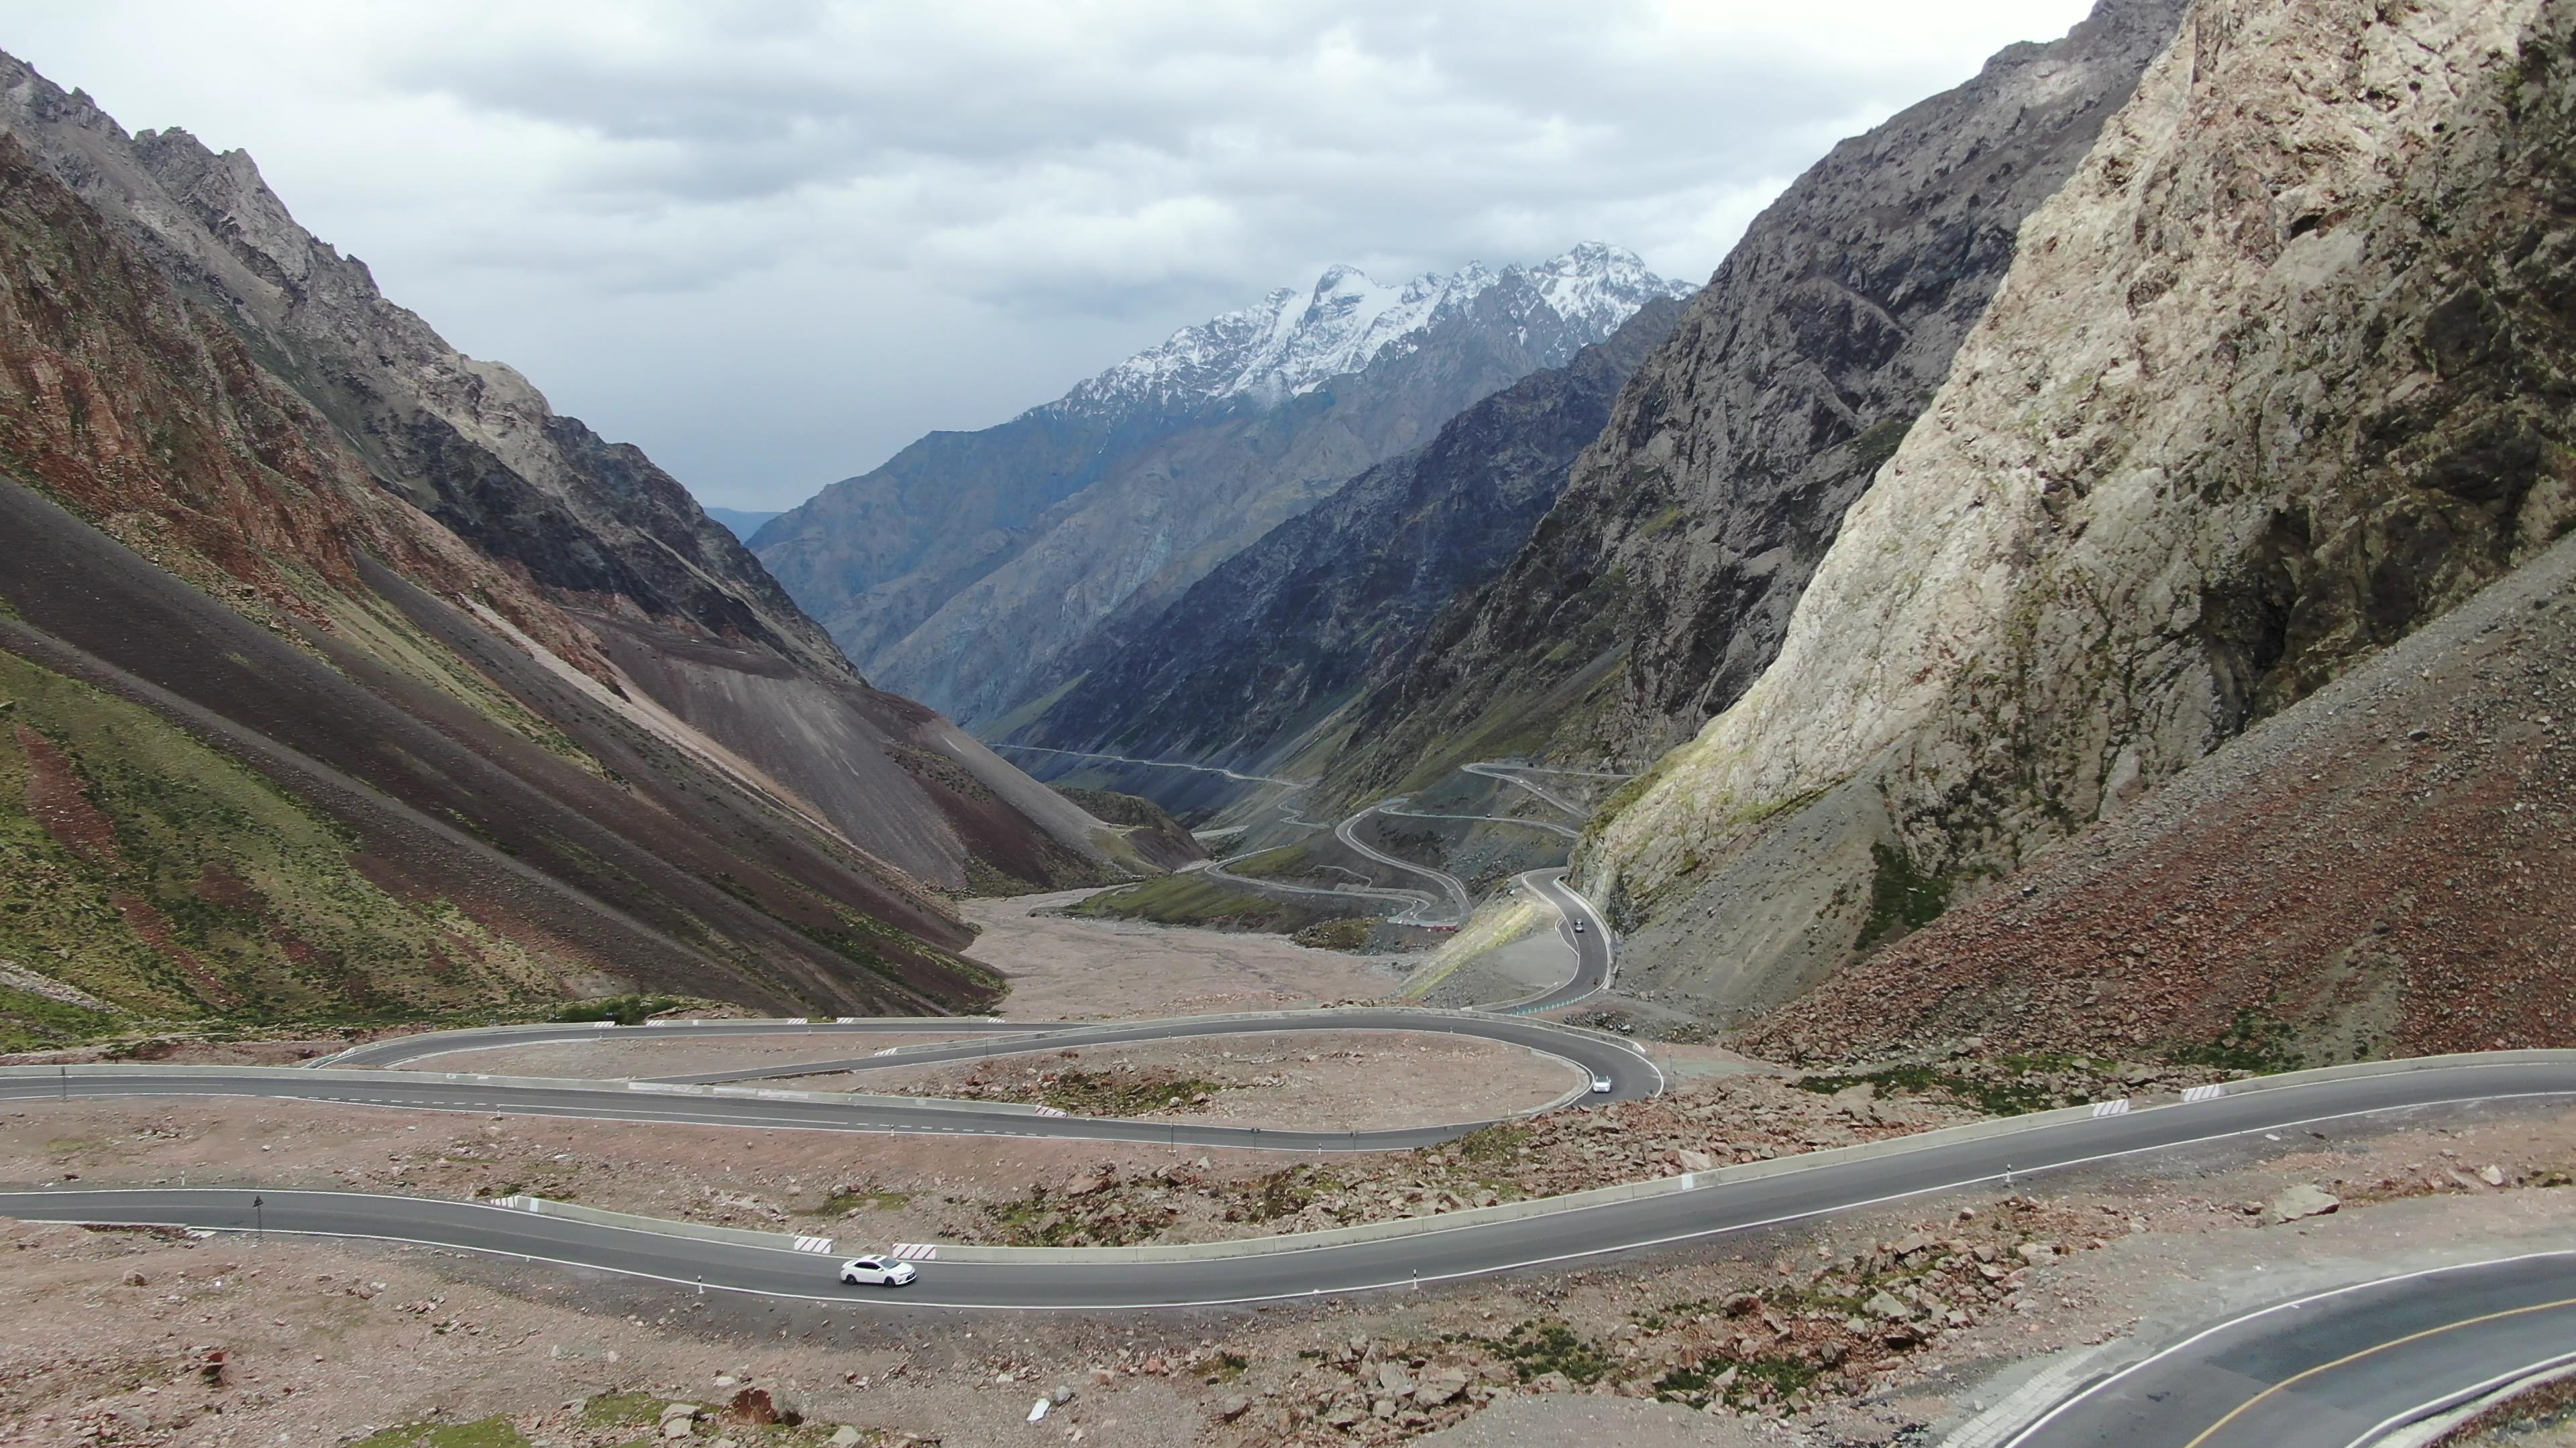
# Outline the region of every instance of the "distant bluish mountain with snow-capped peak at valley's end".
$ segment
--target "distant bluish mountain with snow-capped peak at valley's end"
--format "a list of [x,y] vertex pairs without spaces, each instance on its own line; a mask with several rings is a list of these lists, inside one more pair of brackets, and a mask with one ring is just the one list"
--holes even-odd
[[1615,247],[1309,294],[1188,327],[981,433],[933,433],[752,546],[871,678],[981,724],[1471,402],[1680,291]]

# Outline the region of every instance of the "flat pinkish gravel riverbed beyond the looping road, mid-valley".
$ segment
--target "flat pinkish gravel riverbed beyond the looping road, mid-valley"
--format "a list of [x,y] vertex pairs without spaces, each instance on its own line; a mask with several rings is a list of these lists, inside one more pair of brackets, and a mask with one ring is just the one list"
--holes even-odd
[[984,930],[966,953],[1010,976],[1002,1015],[1136,1020],[1378,1000],[1404,971],[1394,958],[1311,951],[1278,935],[1041,915],[1087,894],[961,907]]

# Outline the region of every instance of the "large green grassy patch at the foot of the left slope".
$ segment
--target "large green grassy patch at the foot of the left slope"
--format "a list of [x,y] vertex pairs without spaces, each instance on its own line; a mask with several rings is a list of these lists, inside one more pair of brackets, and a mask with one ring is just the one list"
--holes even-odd
[[[546,961],[443,899],[386,894],[335,819],[160,714],[5,652],[0,698],[0,958],[198,1028],[554,997]],[[59,809],[39,819],[31,788]],[[131,1025],[0,997],[10,1049]]]

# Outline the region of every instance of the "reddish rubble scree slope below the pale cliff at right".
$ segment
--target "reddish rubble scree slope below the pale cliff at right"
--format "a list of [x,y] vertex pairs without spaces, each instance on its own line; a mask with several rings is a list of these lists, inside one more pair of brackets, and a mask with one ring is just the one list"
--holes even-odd
[[1772,1056],[2576,1038],[2576,541],[1783,1007]]

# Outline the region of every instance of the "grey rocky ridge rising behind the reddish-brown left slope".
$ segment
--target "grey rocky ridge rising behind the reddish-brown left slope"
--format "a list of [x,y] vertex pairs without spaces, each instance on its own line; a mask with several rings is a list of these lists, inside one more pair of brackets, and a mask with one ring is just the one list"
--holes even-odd
[[0,129],[319,410],[379,487],[569,618],[569,634],[544,642],[608,706],[724,755],[940,889],[1079,884],[1110,868],[1097,822],[871,691],[670,474],[384,299],[363,263],[294,222],[247,155],[185,131],[129,137],[10,57]]

